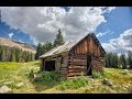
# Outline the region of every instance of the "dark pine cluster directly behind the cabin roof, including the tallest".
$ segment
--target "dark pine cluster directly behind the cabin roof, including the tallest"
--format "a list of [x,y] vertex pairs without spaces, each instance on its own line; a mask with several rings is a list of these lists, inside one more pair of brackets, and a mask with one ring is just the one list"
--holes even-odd
[[48,52],[50,50],[54,48],[54,47],[57,47],[59,45],[63,45],[65,42],[64,42],[64,37],[62,35],[62,31],[61,29],[58,30],[58,33],[56,34],[56,38],[54,41],[54,43],[52,42],[46,42],[44,44],[41,44],[38,43],[37,45],[37,50],[36,50],[36,54],[35,54],[35,59],[38,59],[38,57]]

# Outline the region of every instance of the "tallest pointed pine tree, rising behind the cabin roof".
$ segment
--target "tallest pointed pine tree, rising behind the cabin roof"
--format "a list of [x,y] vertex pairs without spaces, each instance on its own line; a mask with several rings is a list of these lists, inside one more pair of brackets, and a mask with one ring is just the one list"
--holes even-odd
[[63,35],[62,35],[62,31],[61,29],[58,30],[58,34],[56,35],[56,38],[54,41],[54,47],[56,46],[59,46],[59,45],[63,45],[65,42],[64,42],[64,38],[63,38]]

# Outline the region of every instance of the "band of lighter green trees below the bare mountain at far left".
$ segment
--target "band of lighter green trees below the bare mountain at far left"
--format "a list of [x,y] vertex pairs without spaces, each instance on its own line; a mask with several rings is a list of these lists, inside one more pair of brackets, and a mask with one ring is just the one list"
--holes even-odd
[[32,62],[34,53],[16,47],[0,46],[0,62]]

